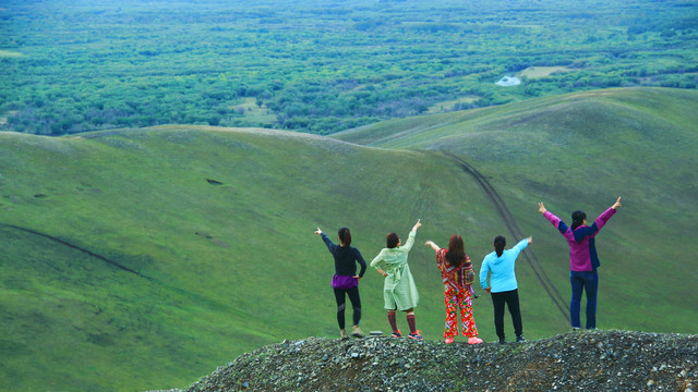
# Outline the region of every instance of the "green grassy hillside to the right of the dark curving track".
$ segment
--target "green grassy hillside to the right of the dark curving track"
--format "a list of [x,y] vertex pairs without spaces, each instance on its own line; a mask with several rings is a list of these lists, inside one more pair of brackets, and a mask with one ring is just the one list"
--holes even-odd
[[[533,249],[565,298],[567,246],[537,201],[566,220],[575,209],[593,219],[623,196],[623,209],[598,241],[600,327],[695,332],[696,108],[695,91],[609,89],[386,122],[336,137],[444,150],[470,162],[533,234]],[[533,280],[521,285],[525,304],[542,293]]]

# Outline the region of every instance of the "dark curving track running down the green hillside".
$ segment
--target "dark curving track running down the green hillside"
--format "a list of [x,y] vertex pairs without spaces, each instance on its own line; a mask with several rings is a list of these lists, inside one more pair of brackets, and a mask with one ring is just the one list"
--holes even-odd
[[[500,217],[502,218],[502,220],[504,220],[504,223],[509,230],[509,233],[515,238],[525,237],[524,233],[521,232],[518,224],[516,224],[516,221],[514,220],[514,215],[512,213],[512,211],[509,211],[506,204],[504,203],[504,199],[502,199],[502,196],[500,196],[500,194],[494,189],[494,186],[490,184],[490,182],[485,179],[485,176],[482,175],[482,173],[480,173],[476,168],[472,167],[472,164],[468,163],[462,158],[446,151],[443,151],[443,154],[449,157],[450,159],[453,159],[454,161],[456,161],[456,163],[466,173],[470,174],[478,182],[478,184],[480,184],[480,186],[484,191],[488,198],[494,204],[494,207],[500,213]],[[531,250],[530,247],[527,247],[522,254],[528,265],[531,266],[533,273],[535,273],[535,278],[538,279],[539,283],[541,284],[541,286],[543,286],[543,290],[545,290],[545,292],[547,293],[547,296],[551,298],[553,304],[555,304],[555,306],[557,307],[559,313],[563,315],[563,317],[569,322],[570,320],[569,320],[569,313],[567,311],[567,304],[563,298],[563,296],[557,291],[557,289],[555,289],[555,286],[551,282],[550,278],[547,277],[547,273],[545,273],[545,269],[541,266],[533,250]]]

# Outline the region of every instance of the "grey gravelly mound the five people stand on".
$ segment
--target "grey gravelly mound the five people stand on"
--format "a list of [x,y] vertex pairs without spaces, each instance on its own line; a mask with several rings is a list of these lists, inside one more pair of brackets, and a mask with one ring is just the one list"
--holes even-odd
[[569,332],[526,343],[308,338],[244,354],[186,392],[694,391],[698,335]]

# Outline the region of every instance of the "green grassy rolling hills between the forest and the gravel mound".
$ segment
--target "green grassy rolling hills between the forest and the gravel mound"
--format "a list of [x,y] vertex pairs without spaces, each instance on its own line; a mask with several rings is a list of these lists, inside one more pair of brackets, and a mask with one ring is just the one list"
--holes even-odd
[[[181,388],[261,345],[337,335],[316,226],[351,228],[370,260],[421,218],[410,264],[430,340],[442,339],[442,286],[421,244],[460,233],[477,268],[494,235],[533,235],[517,270],[525,333],[564,332],[567,249],[539,200],[595,217],[624,196],[598,242],[600,328],[695,332],[697,103],[687,90],[602,90],[334,138],[0,134],[0,390]],[[378,274],[361,295],[364,330],[386,331]],[[494,340],[490,299],[474,313]]]

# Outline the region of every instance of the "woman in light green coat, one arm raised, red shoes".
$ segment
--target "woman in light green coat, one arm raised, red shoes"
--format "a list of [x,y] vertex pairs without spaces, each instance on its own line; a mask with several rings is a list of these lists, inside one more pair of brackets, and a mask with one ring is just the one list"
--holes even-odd
[[422,225],[420,220],[417,221],[412,231],[410,231],[407,243],[402,245],[400,237],[395,233],[386,235],[386,248],[371,261],[373,267],[380,274],[385,278],[383,283],[383,298],[385,299],[385,309],[388,313],[388,322],[393,328],[390,336],[402,336],[400,330],[397,329],[397,320],[395,311],[400,309],[407,313],[407,322],[410,327],[408,338],[423,340],[420,331],[417,330],[414,319],[414,307],[419,301],[419,293],[414,285],[414,279],[410,272],[410,266],[407,264],[407,254],[414,244],[414,235],[417,229]]

